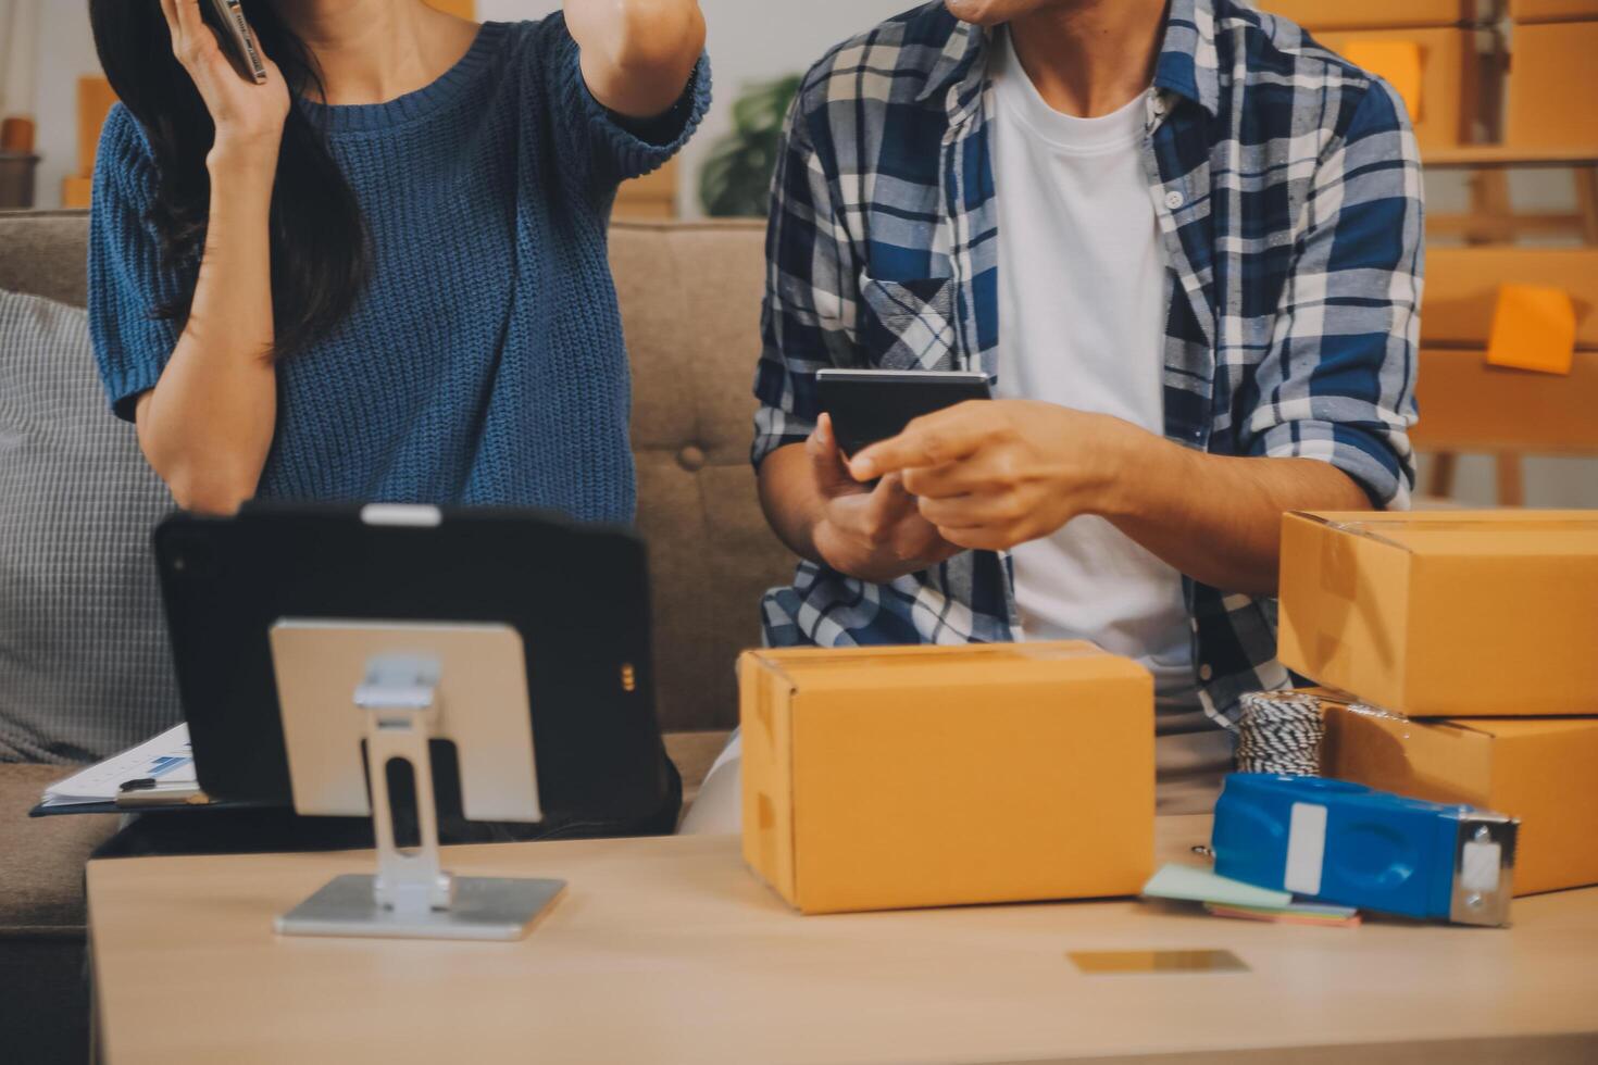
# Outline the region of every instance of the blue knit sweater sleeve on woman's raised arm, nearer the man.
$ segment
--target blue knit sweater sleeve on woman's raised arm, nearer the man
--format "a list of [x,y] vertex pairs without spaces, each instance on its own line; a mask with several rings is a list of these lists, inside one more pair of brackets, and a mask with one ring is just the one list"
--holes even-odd
[[682,96],[654,121],[622,118],[594,99],[583,80],[582,51],[566,16],[539,26],[539,61],[553,123],[569,166],[585,184],[607,188],[660,169],[689,142],[710,109],[710,57],[700,56]]

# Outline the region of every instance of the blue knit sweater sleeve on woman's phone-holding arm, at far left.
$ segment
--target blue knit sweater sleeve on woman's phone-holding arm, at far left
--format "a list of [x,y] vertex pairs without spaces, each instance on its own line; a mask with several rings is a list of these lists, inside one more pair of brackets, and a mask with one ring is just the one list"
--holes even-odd
[[158,310],[181,295],[182,281],[161,262],[160,238],[145,217],[153,196],[149,144],[118,104],[94,160],[88,278],[94,358],[110,407],[126,422],[177,346],[177,323]]

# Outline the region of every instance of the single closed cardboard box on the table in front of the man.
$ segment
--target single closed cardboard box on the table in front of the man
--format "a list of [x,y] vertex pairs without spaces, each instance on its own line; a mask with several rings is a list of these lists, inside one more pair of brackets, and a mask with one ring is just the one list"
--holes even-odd
[[1154,680],[1091,643],[748,651],[743,856],[804,913],[1136,894]]

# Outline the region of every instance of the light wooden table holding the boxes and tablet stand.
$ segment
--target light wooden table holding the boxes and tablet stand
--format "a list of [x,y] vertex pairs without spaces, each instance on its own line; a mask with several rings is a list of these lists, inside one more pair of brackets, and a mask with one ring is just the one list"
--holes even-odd
[[[1206,824],[1163,821],[1163,854]],[[89,864],[110,1065],[1598,1060],[1598,891],[1521,899],[1512,931],[1131,901],[804,918],[735,838],[679,837],[451,848],[455,872],[570,880],[518,944],[273,936],[275,913],[369,864]],[[1125,948],[1230,948],[1250,971],[1066,958]]]

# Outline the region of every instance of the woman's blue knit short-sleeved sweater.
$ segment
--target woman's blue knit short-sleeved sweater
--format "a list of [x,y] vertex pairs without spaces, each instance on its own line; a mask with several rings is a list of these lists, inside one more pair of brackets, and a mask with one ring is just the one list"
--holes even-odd
[[[388,104],[302,101],[361,203],[374,267],[347,321],[278,364],[259,495],[630,522],[630,378],[606,230],[617,185],[697,126],[706,64],[687,91],[676,128],[641,139],[588,93],[553,16],[484,26],[444,77]],[[94,174],[89,315],[125,418],[177,342],[153,310],[192,283],[160,260],[153,188],[144,133],[117,107]]]

